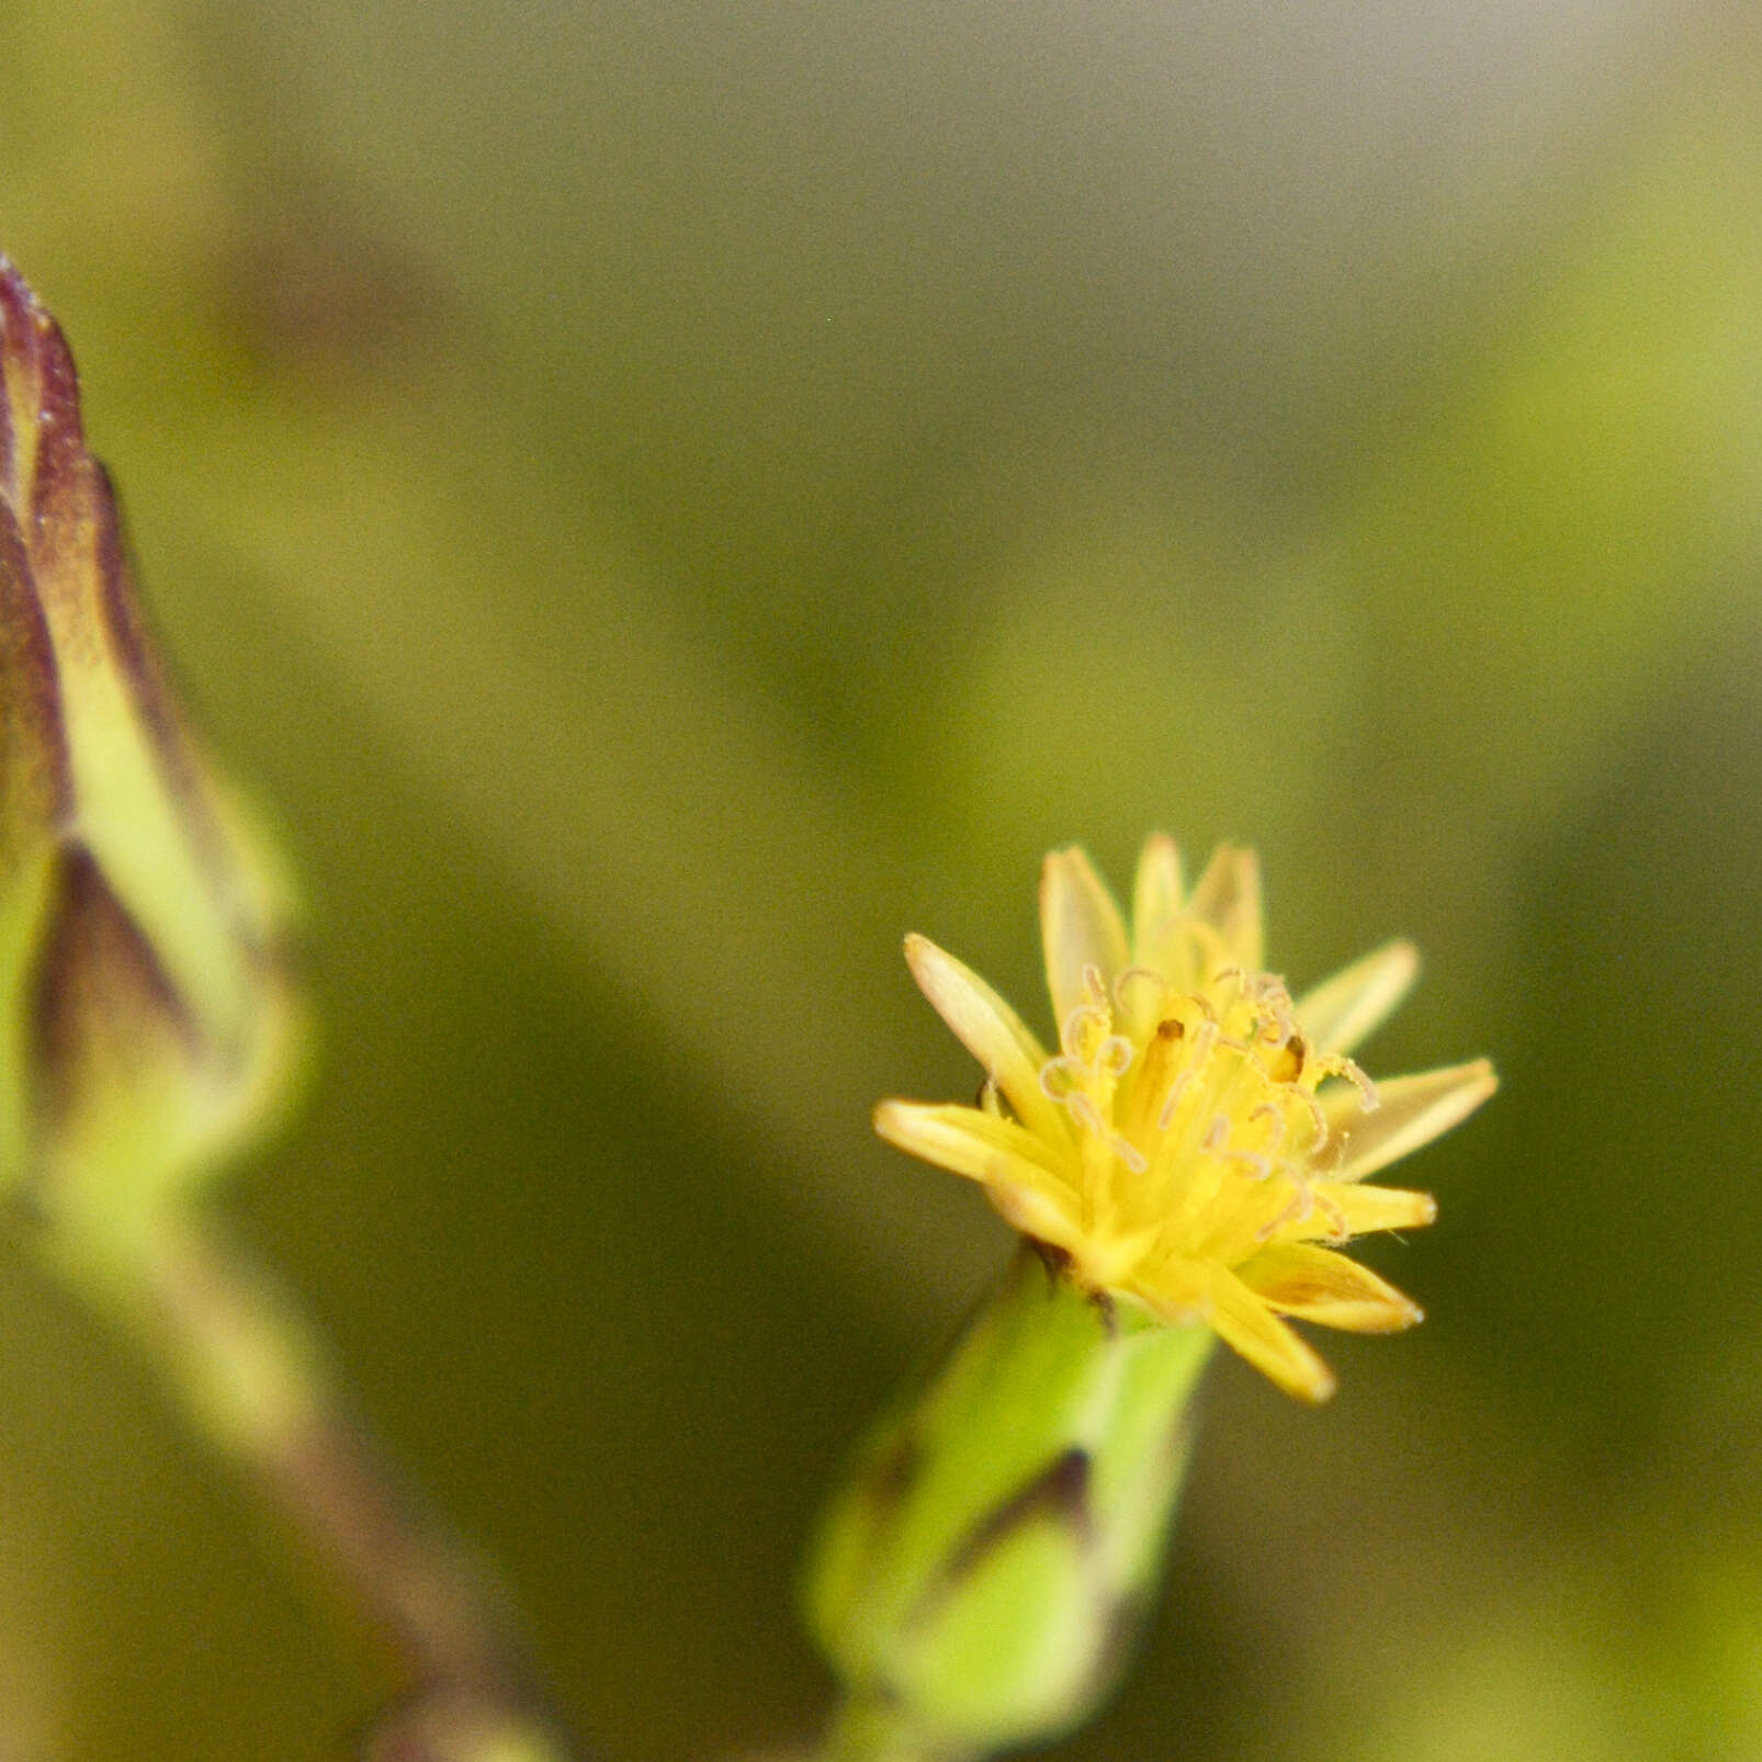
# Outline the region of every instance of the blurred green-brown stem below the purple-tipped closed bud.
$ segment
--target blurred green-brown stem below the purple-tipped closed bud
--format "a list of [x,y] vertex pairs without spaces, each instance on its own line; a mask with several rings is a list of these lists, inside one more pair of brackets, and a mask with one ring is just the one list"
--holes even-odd
[[366,1762],[587,1762],[548,1709],[513,1610],[389,1461],[289,1297],[208,1219],[58,1232],[56,1270],[162,1364],[187,1417],[241,1462],[347,1588],[416,1688]]

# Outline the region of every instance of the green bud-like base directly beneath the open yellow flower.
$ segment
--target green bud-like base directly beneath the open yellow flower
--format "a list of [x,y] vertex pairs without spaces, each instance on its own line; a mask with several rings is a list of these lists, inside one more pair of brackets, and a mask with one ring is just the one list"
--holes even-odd
[[1210,1343],[1018,1251],[821,1526],[809,1623],[855,1718],[967,1757],[1094,1711],[1159,1581]]

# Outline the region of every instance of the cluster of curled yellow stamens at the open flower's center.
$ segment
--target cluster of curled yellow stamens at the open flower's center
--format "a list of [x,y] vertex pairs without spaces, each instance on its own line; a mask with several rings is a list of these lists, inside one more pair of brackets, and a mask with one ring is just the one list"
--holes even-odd
[[1318,1210],[1346,1235],[1313,1186],[1337,1154],[1316,1089],[1350,1082],[1366,1112],[1376,1091],[1350,1059],[1309,1045],[1283,980],[1221,967],[1175,992],[1145,967],[1112,988],[1094,967],[1084,978],[1087,999],[1040,1085],[1077,1128],[1085,1230],[1152,1265],[1235,1265]]

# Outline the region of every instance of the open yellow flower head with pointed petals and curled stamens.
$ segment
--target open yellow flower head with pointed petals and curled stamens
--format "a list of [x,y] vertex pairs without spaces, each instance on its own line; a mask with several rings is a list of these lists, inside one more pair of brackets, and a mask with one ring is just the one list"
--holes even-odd
[[1471,1114],[1496,1087],[1485,1059],[1373,1084],[1350,1052],[1413,983],[1390,943],[1292,1001],[1262,971],[1260,869],[1221,848],[1191,893],[1152,837],[1133,922],[1078,849],[1040,885],[1059,1050],[922,936],[906,960],[985,1066],[978,1107],[883,1101],[890,1144],[985,1186],[1024,1235],[1068,1256],[1094,1292],[1168,1322],[1205,1322],[1283,1388],[1334,1390],[1286,1327],[1362,1334],[1420,1320],[1392,1284],[1336,1247],[1431,1223],[1427,1193],[1364,1177]]

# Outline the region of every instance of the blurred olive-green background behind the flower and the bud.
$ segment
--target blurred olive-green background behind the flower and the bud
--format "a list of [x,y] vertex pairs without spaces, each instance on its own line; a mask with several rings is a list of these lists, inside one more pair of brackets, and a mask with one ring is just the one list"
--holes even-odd
[[[1505,1092],[1431,1313],[1209,1392],[1057,1753],[1762,1753],[1750,7],[11,0],[0,248],[326,1031],[231,1191],[611,1758],[809,1730],[791,1579],[1004,1256],[872,1142],[1041,1022],[1082,839],[1260,846],[1293,983]],[[0,1758],[340,1755],[396,1688],[0,1253]]]

